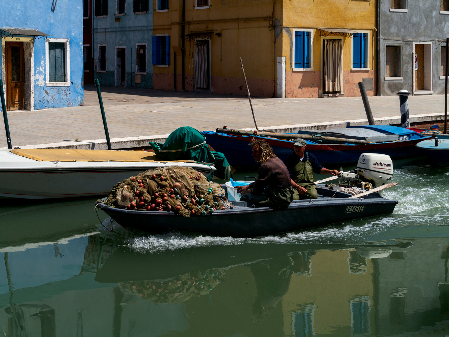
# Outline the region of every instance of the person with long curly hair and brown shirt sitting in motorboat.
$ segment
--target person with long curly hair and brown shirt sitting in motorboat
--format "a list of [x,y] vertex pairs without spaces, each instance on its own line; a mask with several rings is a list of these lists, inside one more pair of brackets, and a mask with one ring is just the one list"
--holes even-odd
[[242,194],[240,200],[257,206],[287,207],[293,201],[293,188],[287,167],[276,157],[265,140],[253,139],[249,145],[252,147],[254,160],[260,166],[255,182],[238,186],[237,192]]

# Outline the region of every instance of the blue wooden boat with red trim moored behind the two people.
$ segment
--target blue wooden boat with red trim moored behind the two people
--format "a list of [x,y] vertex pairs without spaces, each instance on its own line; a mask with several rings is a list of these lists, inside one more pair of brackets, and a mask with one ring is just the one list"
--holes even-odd
[[[219,132],[220,131],[220,132]],[[232,166],[255,166],[251,147],[248,143],[253,138],[266,140],[273,147],[274,153],[281,160],[285,160],[293,153],[293,141],[251,134],[252,131],[235,133],[217,131],[203,131],[206,142],[216,151],[225,154]],[[313,136],[315,140],[306,140],[307,151],[312,153],[321,164],[348,164],[355,163],[362,153],[381,153],[392,159],[410,158],[416,156],[415,145],[420,141],[429,139],[413,130],[391,125],[367,125],[347,127],[346,129],[333,129],[327,131],[300,131],[298,138],[304,135]],[[265,133],[266,135],[266,133]],[[279,134],[277,134],[279,135]],[[296,134],[284,134],[296,136]],[[326,144],[320,141],[322,136],[332,136],[340,141]],[[361,141],[364,144],[360,144]],[[357,143],[358,142],[358,143]]]

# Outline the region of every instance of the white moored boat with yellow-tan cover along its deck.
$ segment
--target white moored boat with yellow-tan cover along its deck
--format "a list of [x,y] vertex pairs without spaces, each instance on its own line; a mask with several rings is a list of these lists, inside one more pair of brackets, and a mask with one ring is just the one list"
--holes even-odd
[[206,176],[216,170],[192,160],[164,162],[146,151],[1,149],[0,197],[105,196],[132,175],[172,165],[192,167]]

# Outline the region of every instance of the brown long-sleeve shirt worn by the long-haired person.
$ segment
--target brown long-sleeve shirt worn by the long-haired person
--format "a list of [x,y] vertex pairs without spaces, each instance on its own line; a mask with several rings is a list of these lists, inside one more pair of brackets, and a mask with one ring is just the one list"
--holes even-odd
[[269,158],[260,164],[257,174],[259,177],[248,186],[252,193],[261,194],[267,186],[272,191],[291,186],[290,173],[282,160],[277,157]]

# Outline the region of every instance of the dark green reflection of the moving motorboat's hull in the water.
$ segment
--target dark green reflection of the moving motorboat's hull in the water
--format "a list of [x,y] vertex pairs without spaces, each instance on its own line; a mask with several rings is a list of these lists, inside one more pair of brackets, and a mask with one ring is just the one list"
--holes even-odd
[[[351,248],[362,250],[370,248],[373,251],[383,251],[385,247],[385,245],[351,245]],[[229,269],[259,262],[268,263],[267,261],[279,257],[285,266],[291,264],[293,272],[304,274],[309,271],[308,261],[317,249],[348,249],[348,246],[245,243],[157,253],[141,253],[119,247],[97,271],[95,280],[101,283],[170,280],[188,273],[194,275],[198,271]]]

